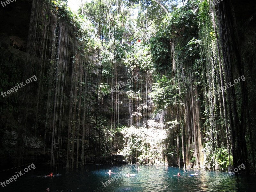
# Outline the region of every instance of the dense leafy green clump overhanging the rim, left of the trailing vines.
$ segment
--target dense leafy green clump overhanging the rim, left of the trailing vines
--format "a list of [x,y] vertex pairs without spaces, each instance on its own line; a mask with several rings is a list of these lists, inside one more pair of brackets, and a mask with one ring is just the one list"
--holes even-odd
[[156,70],[172,73],[171,38],[174,38],[178,45],[176,57],[184,64],[194,62],[197,54],[195,49],[189,50],[192,45],[189,41],[191,39],[195,41],[197,38],[195,35],[198,23],[193,12],[196,5],[196,1],[189,1],[186,5],[171,12],[162,21],[156,36],[151,39],[152,60]]

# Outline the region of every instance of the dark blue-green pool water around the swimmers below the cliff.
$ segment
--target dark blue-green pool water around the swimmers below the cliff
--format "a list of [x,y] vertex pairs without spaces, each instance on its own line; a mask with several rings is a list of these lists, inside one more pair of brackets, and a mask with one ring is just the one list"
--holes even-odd
[[[255,177],[241,177],[239,182],[235,175],[220,171],[194,171],[182,170],[177,167],[165,166],[140,166],[141,171],[131,169],[129,165],[106,166],[106,165],[87,165],[79,169],[59,169],[54,172],[54,177],[46,178],[44,175],[51,172],[49,167],[36,167],[35,170],[30,170],[26,174],[17,179],[16,182],[11,182],[0,191],[21,191],[21,192],[44,192],[46,188],[50,188],[50,192],[64,191],[108,191],[108,192],[157,192],[157,191],[254,191]],[[109,177],[108,170],[120,173],[111,174]],[[9,170],[1,173],[1,181],[5,181],[15,174],[15,170]],[[135,174],[134,177],[126,177],[127,173]],[[177,175],[180,172],[181,176]],[[197,172],[198,175],[189,177],[190,174]],[[59,173],[57,176],[56,174]],[[222,181],[215,186],[211,182],[215,182],[227,176],[226,181]],[[114,180],[108,184],[108,180],[116,176]],[[105,187],[102,182],[107,182]]]

